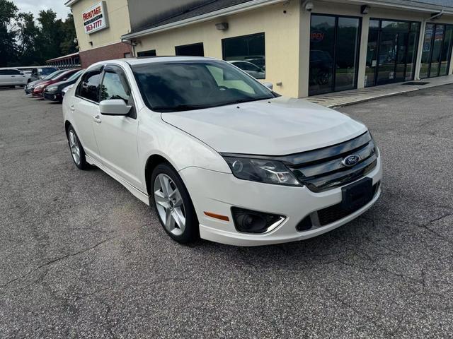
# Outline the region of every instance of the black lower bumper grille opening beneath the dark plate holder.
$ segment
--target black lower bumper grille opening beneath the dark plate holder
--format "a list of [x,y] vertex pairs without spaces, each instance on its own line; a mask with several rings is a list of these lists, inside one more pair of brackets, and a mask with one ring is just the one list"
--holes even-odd
[[[379,190],[380,182],[377,182],[373,185],[373,194],[372,197],[376,196],[377,191]],[[369,201],[372,201],[370,198],[368,201],[364,201],[360,206],[355,206],[355,209],[345,209],[341,206],[341,203],[336,205],[317,210],[316,212],[310,213],[301,222],[296,226],[296,230],[299,232],[304,232],[311,230],[312,228],[326,226],[332,222],[336,222],[343,218],[346,218],[348,215],[357,212],[363,206],[367,205]]]

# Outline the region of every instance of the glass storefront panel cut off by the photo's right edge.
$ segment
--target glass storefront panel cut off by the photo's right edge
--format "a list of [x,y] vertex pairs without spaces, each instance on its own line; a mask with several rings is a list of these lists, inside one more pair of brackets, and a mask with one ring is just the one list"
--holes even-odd
[[426,24],[420,78],[433,78],[448,74],[452,40],[453,25]]

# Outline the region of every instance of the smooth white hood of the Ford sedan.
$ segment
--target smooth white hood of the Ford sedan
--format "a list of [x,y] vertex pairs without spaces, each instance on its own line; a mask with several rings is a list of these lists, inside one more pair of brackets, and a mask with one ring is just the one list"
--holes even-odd
[[367,131],[345,114],[287,97],[161,117],[222,153],[287,155],[348,141]]

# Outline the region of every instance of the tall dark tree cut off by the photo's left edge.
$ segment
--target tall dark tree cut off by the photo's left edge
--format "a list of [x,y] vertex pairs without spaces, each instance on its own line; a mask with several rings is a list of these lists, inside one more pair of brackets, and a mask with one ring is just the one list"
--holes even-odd
[[12,26],[17,10],[13,2],[0,0],[0,67],[16,59],[16,31]]

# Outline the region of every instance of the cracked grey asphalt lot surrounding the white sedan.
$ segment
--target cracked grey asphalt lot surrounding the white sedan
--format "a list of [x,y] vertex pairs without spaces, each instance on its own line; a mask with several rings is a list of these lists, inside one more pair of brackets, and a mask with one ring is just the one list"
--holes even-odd
[[384,193],[305,242],[180,246],[99,169],[61,105],[0,90],[0,338],[451,338],[453,86],[340,109]]

